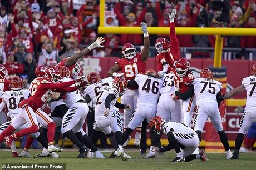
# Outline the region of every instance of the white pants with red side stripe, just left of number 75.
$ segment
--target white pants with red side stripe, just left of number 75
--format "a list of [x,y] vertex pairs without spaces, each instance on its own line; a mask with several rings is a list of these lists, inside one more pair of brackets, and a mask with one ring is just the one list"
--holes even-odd
[[182,103],[183,123],[190,127],[192,115],[196,106],[195,96],[191,96]]

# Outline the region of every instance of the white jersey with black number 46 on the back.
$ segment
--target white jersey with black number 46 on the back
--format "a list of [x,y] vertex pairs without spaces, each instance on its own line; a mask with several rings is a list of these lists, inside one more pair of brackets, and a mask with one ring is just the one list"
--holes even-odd
[[139,85],[137,106],[147,104],[147,106],[156,107],[163,81],[143,74],[137,74],[134,80]]

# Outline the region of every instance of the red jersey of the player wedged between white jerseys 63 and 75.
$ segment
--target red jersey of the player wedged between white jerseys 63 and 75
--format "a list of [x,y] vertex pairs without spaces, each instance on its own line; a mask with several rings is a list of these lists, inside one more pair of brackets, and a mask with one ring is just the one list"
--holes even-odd
[[[175,75],[176,75],[176,72],[175,72]],[[183,77],[178,77],[176,76],[176,86],[179,88],[179,91],[181,93],[184,93],[186,92],[188,89],[189,89],[189,86],[191,85],[191,83],[193,82],[194,80],[194,76],[193,76],[193,73],[191,71],[188,71],[186,73],[185,76]]]

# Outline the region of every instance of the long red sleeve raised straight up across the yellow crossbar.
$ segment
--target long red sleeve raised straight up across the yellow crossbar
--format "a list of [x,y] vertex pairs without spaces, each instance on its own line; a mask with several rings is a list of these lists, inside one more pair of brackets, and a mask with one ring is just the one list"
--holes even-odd
[[174,22],[170,23],[170,53],[173,54],[174,58],[180,58],[180,46],[178,38],[175,33],[175,24]]

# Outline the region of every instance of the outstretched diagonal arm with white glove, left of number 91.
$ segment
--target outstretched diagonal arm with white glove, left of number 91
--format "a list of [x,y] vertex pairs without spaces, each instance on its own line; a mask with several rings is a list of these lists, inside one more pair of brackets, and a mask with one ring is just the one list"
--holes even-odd
[[81,52],[74,54],[73,56],[67,58],[65,62],[65,66],[72,66],[75,64],[80,58],[85,56],[88,52],[90,52],[94,48],[103,47],[101,44],[104,42],[104,38],[98,37],[95,42],[93,42],[90,46],[84,48]]

